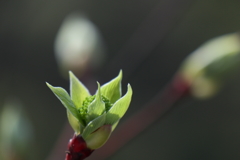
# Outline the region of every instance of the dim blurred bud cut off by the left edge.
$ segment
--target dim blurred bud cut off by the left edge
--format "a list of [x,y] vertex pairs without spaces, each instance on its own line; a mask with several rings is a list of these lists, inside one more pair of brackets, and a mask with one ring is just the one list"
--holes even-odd
[[[30,159],[33,130],[30,121],[16,100],[8,101],[0,113],[1,160]],[[31,150],[31,153],[29,153]]]

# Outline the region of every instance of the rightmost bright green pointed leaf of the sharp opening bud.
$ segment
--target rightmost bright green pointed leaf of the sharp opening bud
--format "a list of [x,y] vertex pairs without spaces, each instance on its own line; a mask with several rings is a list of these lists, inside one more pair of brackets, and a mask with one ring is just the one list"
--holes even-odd
[[115,124],[126,113],[132,99],[132,88],[128,84],[127,93],[107,112],[105,124]]

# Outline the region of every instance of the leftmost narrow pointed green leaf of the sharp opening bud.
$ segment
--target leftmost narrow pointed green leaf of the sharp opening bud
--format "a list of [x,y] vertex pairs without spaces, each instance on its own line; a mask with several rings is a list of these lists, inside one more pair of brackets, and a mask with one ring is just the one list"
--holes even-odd
[[[82,120],[79,117],[78,111],[75,108],[70,96],[68,95],[67,91],[61,87],[53,87],[49,83],[46,83],[47,86],[52,90],[55,96],[62,102],[63,106],[75,117],[77,118],[80,123]],[[83,124],[83,123],[82,123]]]

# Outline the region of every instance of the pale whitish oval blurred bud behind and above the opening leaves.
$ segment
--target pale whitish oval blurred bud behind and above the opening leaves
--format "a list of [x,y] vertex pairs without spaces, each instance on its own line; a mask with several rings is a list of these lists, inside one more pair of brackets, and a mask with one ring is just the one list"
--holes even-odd
[[55,40],[55,55],[61,73],[71,70],[81,76],[97,69],[104,60],[103,41],[95,25],[81,14],[71,14],[63,21]]

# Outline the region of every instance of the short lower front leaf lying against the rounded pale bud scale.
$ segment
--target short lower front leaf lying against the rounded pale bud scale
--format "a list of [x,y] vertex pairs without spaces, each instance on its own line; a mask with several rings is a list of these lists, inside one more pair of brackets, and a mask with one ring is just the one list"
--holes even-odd
[[94,132],[96,129],[104,125],[106,119],[106,113],[97,117],[93,121],[89,122],[88,125],[85,127],[82,133],[82,137],[85,139],[89,134]]

